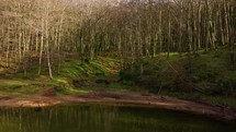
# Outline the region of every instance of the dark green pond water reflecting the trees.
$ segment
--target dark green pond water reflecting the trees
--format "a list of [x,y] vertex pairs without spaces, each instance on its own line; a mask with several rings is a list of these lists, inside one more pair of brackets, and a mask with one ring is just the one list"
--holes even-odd
[[72,105],[2,108],[0,132],[236,132],[236,125],[164,109]]

